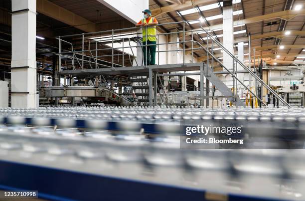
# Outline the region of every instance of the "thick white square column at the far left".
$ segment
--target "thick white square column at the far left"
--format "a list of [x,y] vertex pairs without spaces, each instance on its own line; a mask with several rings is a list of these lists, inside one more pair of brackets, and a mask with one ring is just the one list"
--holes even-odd
[[11,106],[36,108],[36,0],[12,0],[11,10]]

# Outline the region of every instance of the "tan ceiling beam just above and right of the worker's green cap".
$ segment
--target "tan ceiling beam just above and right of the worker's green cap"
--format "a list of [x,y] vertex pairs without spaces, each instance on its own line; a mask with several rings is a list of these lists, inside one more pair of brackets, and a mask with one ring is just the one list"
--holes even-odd
[[215,3],[215,2],[216,2],[216,0],[187,0],[182,4],[174,3],[171,5],[152,9],[152,16],[157,16],[157,15],[164,14],[166,12],[175,11],[175,10],[185,9],[185,8],[193,7],[196,5],[210,4],[210,3]]

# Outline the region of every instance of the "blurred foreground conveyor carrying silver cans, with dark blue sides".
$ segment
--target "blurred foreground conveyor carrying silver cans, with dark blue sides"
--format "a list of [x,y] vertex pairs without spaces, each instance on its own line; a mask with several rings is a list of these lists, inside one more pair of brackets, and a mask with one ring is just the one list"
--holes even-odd
[[182,123],[242,123],[245,140],[265,145],[267,138],[288,136],[286,142],[302,149],[303,108],[43,107],[0,113],[1,189],[37,190],[49,200],[304,200],[304,150],[183,149],[180,136]]

